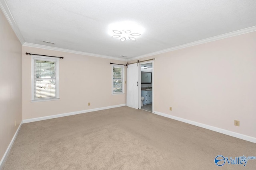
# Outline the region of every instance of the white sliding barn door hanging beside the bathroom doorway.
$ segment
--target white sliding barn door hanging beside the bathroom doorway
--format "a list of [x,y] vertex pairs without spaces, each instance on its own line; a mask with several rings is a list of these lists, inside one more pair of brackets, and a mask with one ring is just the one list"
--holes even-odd
[[139,83],[139,64],[128,64],[126,106],[139,109]]

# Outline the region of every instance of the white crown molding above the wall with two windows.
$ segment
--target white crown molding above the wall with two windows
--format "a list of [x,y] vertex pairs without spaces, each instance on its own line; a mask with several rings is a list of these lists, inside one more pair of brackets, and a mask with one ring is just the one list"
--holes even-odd
[[26,46],[26,47],[35,47],[35,48],[40,48],[40,49],[61,51],[61,52],[80,54],[80,55],[88,55],[88,56],[92,56],[92,57],[100,57],[100,58],[105,58],[105,59],[114,59],[114,60],[119,60],[119,61],[127,61],[127,59],[119,59],[117,57],[111,57],[111,56],[107,56],[107,55],[86,53],[86,52],[82,52],[82,51],[62,49],[62,48],[58,48],[58,47],[50,47],[50,46],[46,46],[46,45],[38,45],[38,44],[33,44],[33,43],[23,43],[22,45]]

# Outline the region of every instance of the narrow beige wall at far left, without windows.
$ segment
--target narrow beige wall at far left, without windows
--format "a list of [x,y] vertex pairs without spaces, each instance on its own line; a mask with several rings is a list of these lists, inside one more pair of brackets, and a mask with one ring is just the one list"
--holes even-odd
[[22,45],[0,10],[0,160],[22,121],[21,52]]

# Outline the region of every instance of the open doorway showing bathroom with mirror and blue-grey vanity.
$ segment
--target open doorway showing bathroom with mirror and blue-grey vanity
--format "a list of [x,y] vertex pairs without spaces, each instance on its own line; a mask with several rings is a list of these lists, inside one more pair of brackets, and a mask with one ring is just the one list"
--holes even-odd
[[[140,63],[140,108],[153,112],[153,62]],[[143,100],[143,101],[142,101]]]

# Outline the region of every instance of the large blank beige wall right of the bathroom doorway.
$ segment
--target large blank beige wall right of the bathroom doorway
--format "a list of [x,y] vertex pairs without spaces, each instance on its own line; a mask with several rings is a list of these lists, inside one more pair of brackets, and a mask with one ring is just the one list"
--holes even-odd
[[149,58],[154,111],[256,137],[256,31]]

